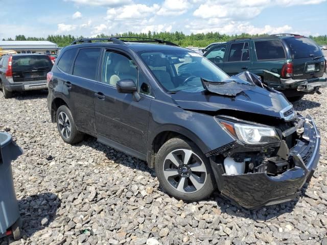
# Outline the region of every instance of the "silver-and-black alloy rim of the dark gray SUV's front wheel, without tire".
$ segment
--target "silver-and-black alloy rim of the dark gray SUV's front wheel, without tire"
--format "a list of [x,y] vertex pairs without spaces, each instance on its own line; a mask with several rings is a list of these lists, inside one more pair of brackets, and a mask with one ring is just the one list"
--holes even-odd
[[174,150],[167,155],[163,165],[166,180],[176,190],[192,193],[204,186],[207,170],[204,162],[193,151]]

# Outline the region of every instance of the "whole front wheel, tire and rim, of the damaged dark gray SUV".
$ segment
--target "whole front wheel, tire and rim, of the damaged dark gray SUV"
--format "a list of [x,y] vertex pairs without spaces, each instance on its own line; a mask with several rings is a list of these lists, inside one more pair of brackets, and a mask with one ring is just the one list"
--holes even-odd
[[[188,162],[185,156],[190,156]],[[155,158],[155,171],[161,187],[177,199],[199,201],[215,189],[209,159],[188,139],[172,138],[164,143]]]

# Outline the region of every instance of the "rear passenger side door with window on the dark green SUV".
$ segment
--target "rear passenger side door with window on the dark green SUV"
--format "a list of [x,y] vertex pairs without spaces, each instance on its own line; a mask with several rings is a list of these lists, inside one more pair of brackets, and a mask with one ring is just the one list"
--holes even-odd
[[251,68],[249,42],[232,42],[226,56],[223,70],[233,76]]

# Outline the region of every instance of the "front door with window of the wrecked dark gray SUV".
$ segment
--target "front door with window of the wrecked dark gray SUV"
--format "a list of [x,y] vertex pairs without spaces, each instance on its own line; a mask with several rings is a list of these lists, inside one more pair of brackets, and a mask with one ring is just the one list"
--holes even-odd
[[[107,50],[102,65],[102,80],[95,93],[98,140],[113,148],[146,159],[151,88],[143,72],[126,54]],[[141,100],[119,93],[116,83],[131,79]]]

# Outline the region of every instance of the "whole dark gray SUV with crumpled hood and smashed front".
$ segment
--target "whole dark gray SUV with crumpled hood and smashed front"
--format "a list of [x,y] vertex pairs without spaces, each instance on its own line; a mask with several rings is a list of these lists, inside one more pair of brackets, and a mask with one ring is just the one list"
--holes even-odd
[[170,42],[76,41],[48,83],[51,119],[65,142],[88,134],[145,160],[178,199],[201,200],[218,188],[247,208],[285,202],[317,166],[320,136],[310,116],[297,115],[257,76],[229,77]]

